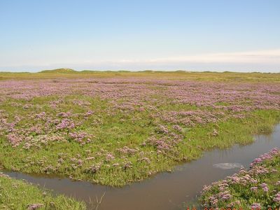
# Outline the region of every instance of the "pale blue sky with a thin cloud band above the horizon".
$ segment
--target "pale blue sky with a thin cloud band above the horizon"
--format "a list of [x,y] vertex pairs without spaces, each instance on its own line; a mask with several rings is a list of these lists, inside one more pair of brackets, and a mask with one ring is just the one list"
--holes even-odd
[[280,1],[0,0],[0,71],[280,71]]

